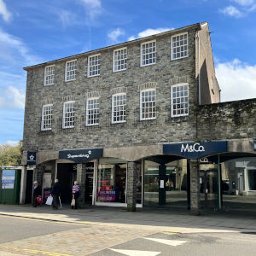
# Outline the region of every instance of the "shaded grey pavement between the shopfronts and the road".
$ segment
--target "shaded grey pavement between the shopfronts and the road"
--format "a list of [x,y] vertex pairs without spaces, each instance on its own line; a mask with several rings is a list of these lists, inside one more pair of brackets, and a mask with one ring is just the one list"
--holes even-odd
[[186,209],[139,208],[127,212],[122,207],[87,206],[73,210],[69,205],[53,210],[49,206],[0,205],[0,215],[34,218],[73,224],[90,224],[102,227],[136,228],[154,232],[255,232],[256,212],[204,211],[193,216]]

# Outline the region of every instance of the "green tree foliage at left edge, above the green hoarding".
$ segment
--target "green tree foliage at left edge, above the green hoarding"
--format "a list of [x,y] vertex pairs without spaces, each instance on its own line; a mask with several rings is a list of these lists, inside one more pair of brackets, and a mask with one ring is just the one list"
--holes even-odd
[[22,146],[0,145],[0,166],[20,166]]

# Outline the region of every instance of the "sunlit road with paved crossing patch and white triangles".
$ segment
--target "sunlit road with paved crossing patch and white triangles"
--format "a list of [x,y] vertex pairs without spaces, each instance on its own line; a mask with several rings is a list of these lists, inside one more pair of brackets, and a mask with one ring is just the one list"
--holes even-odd
[[256,252],[256,233],[157,232],[111,225],[71,224],[0,216],[0,255],[247,255]]

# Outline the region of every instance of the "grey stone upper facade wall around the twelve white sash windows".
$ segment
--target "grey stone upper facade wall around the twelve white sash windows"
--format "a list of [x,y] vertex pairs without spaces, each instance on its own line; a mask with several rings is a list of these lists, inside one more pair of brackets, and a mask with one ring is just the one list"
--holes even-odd
[[[149,39],[148,39],[149,40]],[[145,41],[148,41],[145,40]],[[77,58],[77,79],[64,82],[66,61],[55,61],[55,84],[44,86],[44,65],[27,70],[24,149],[60,150],[63,148],[118,148],[131,145],[194,140],[197,105],[195,79],[195,28],[189,31],[189,57],[171,61],[171,36],[156,37],[157,63],[140,67],[140,43],[127,44],[127,70],[113,73],[113,49],[102,49],[101,75],[87,78],[87,55]],[[123,45],[124,46],[124,45]],[[182,79],[181,79],[182,78]],[[171,84],[189,83],[189,116],[171,118]],[[157,118],[140,121],[142,84],[156,84]],[[127,91],[126,122],[111,124],[111,90]],[[85,100],[88,92],[100,95],[100,124],[85,127]],[[75,100],[75,127],[62,129],[63,102]],[[40,131],[42,106],[53,103],[52,131]]]

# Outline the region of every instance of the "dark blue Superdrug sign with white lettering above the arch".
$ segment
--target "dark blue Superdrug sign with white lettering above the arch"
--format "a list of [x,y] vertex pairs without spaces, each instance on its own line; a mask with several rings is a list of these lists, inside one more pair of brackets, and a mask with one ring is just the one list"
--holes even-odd
[[103,148],[89,148],[89,149],[67,149],[60,150],[59,158],[71,160],[76,163],[82,163],[91,159],[102,157]]

